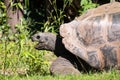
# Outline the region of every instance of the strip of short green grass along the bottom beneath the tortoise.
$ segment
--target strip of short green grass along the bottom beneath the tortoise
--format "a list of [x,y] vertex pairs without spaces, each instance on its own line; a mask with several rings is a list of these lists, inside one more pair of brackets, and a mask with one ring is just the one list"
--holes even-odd
[[2,80],[120,80],[120,74],[117,71],[89,73],[67,76],[1,76]]

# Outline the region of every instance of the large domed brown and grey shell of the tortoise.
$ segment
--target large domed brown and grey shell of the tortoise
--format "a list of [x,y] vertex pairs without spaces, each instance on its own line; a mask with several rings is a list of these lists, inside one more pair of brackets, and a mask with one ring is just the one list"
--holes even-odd
[[67,50],[97,69],[120,66],[120,3],[104,4],[60,26]]

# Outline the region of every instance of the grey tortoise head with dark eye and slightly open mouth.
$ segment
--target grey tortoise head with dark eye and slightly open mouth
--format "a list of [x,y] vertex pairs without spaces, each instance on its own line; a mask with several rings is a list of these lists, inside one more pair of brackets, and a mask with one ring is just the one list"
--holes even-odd
[[33,42],[38,42],[35,46],[38,50],[55,50],[56,35],[53,33],[39,32],[31,37]]

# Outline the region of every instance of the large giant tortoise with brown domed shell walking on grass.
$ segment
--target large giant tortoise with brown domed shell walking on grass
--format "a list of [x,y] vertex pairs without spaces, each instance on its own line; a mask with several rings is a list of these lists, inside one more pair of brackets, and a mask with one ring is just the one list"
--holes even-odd
[[69,23],[60,35],[39,32],[32,36],[38,50],[53,51],[52,74],[80,74],[81,70],[120,69],[120,3],[90,9]]

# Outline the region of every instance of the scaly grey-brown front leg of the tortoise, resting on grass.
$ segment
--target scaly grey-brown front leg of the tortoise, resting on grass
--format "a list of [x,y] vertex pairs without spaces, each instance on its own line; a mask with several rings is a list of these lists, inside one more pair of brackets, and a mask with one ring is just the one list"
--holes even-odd
[[63,57],[58,57],[51,65],[50,72],[53,75],[67,75],[75,74],[79,75],[80,72],[73,66],[73,64]]

